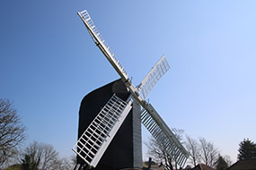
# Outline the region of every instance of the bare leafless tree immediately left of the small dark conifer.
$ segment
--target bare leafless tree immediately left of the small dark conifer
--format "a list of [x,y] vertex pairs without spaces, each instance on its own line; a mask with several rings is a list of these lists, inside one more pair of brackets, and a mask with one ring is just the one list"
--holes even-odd
[[201,159],[207,166],[215,166],[217,156],[219,154],[218,149],[212,142],[207,141],[204,138],[199,138],[199,145],[201,149]]

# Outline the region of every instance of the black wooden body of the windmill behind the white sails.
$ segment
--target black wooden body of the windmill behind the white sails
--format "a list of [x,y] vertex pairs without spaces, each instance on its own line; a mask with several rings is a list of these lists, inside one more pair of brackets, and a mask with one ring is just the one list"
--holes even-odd
[[[78,137],[83,135],[102,107],[106,105],[114,94],[115,97],[121,98],[124,101],[130,94],[120,79],[95,89],[84,97],[79,110]],[[140,105],[134,101],[126,119],[103,153],[95,170],[113,170],[141,166],[142,146],[139,115]],[[87,148],[90,148],[90,146]],[[77,163],[83,165],[84,159],[77,157]]]

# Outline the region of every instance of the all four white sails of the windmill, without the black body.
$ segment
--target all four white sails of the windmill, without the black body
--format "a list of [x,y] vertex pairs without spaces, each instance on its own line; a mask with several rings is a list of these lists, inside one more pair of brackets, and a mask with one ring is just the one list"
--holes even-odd
[[162,142],[166,146],[166,150],[177,164],[184,166],[189,153],[183,148],[181,142],[175,137],[168,125],[164,123],[154,107],[146,102],[146,97],[156,82],[170,69],[165,56],[161,57],[151,71],[146,74],[145,79],[135,87],[128,79],[128,73],[102,38],[99,30],[95,27],[89,13],[84,10],[83,12],[78,12],[78,15],[84,21],[84,25],[93,38],[94,43],[119,73],[121,80],[129,91],[129,96],[125,101],[114,94],[107,104],[102,107],[102,110],[94,117],[85,132],[75,143],[73,150],[77,156],[84,160],[86,166],[97,166],[111,140],[115,137],[126,119],[132,104],[136,101],[142,107],[139,116],[140,122],[145,125],[155,140]]

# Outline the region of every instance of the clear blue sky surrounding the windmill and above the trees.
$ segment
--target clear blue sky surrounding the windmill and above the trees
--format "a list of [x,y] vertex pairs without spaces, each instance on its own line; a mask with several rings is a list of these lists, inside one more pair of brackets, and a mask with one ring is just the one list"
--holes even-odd
[[234,161],[240,141],[256,141],[256,1],[1,0],[0,98],[22,116],[27,143],[74,154],[82,98],[119,79],[84,9],[135,85],[166,55],[171,70],[148,98],[170,127]]

